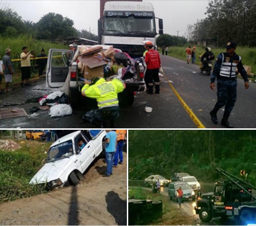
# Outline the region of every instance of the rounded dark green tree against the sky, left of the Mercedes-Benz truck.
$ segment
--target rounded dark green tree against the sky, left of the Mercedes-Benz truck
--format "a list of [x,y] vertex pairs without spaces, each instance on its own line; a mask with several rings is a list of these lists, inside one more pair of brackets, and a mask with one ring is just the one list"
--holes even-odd
[[49,12],[37,22],[39,39],[64,39],[77,34],[74,22],[68,17]]

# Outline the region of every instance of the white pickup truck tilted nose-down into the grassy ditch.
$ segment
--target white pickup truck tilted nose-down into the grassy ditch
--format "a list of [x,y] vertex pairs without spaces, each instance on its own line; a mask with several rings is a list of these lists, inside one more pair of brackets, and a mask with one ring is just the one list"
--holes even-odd
[[[103,150],[105,130],[72,132],[54,142],[47,154],[46,164],[30,180],[30,184],[48,183],[50,187],[77,185],[83,173]],[[82,141],[82,148],[78,143]]]

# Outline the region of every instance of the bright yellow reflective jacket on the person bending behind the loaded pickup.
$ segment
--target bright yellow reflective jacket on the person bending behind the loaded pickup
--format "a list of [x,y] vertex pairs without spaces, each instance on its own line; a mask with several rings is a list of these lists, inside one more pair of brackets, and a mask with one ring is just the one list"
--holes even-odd
[[98,108],[116,107],[118,106],[117,94],[125,89],[125,83],[119,79],[113,79],[106,82],[104,78],[100,78],[97,83],[89,86],[85,84],[81,93],[83,96],[97,99]]

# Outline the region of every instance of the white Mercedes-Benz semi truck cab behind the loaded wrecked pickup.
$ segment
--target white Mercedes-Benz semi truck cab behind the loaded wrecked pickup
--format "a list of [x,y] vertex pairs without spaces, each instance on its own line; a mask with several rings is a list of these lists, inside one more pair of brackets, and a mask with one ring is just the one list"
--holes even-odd
[[142,41],[149,40],[156,45],[156,35],[163,34],[163,20],[155,17],[151,3],[102,1],[104,9],[98,20],[98,44],[113,45],[132,57],[142,56]]

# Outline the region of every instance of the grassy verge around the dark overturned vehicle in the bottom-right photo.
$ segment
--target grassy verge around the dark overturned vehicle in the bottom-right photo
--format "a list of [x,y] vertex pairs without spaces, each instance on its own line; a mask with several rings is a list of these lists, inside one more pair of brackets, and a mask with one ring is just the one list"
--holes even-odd
[[177,204],[162,194],[155,194],[141,187],[129,188],[129,197],[135,199],[155,199],[162,200],[163,217],[160,220],[151,222],[149,225],[195,225],[193,217],[189,217],[181,209],[177,209]]

